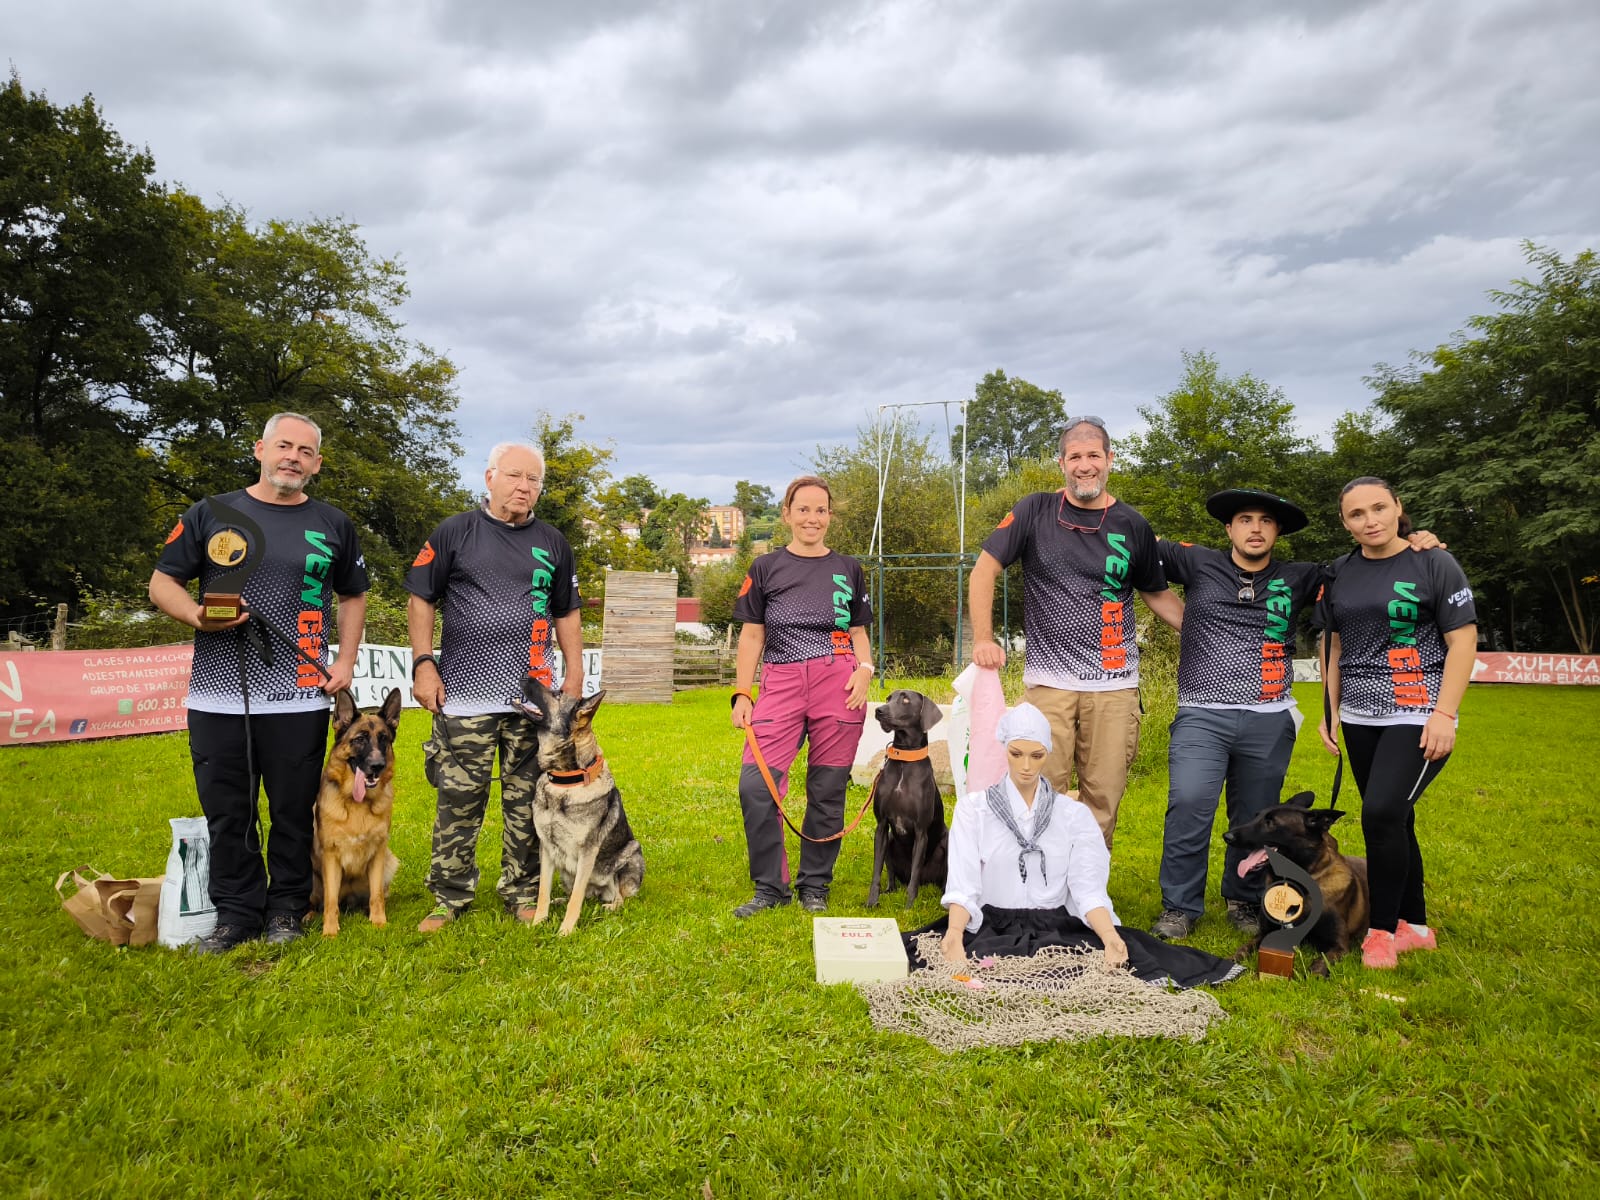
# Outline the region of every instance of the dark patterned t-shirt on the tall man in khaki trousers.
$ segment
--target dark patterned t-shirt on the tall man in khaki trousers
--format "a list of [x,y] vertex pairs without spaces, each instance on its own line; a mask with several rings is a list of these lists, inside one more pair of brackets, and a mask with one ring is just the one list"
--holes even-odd
[[1024,496],[984,539],[1002,566],[1022,560],[1022,682],[1064,691],[1134,688],[1133,594],[1166,590],[1155,533],[1120,501],[1080,509],[1062,504],[1064,496]]

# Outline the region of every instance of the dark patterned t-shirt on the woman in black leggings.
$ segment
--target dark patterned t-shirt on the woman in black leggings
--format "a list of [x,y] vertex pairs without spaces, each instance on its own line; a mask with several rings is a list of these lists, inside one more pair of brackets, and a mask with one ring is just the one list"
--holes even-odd
[[1339,635],[1339,720],[1424,725],[1445,678],[1445,634],[1477,624],[1472,586],[1448,550],[1333,563],[1317,622]]

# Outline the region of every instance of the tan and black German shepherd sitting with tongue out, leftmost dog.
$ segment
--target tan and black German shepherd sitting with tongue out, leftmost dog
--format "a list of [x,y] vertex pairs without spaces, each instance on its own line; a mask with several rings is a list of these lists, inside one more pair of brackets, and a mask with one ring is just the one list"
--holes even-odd
[[389,883],[400,859],[389,850],[395,806],[395,728],[400,690],[390,688],[378,712],[358,712],[349,691],[333,701],[333,749],[317,792],[310,843],[310,907],[322,906],[322,936],[339,933],[339,909],[360,909],[387,925]]

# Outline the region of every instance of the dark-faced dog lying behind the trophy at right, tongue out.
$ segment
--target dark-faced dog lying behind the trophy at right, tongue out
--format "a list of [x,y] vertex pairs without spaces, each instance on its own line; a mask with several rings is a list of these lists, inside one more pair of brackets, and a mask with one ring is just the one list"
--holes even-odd
[[[1344,813],[1334,808],[1312,808],[1312,800],[1310,792],[1280,800],[1277,806],[1258,813],[1254,819],[1229,829],[1222,834],[1222,840],[1235,850],[1253,851],[1238,864],[1240,878],[1266,870],[1267,886],[1277,882],[1267,866],[1270,846],[1317,880],[1322,890],[1322,920],[1301,944],[1325,955],[1312,965],[1312,973],[1328,974],[1328,963],[1349,954],[1350,947],[1360,946],[1366,936],[1371,901],[1366,891],[1366,859],[1341,854],[1338,838],[1328,832]],[[1270,928],[1262,930],[1238,952],[1238,958],[1258,950],[1269,931]]]

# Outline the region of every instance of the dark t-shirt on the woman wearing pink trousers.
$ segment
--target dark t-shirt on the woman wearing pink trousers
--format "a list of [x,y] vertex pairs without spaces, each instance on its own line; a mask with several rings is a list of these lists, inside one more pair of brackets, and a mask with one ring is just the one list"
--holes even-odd
[[861,563],[834,550],[816,558],[773,550],[750,563],[733,619],[765,627],[762,662],[853,654],[851,627],[872,624],[867,579]]

